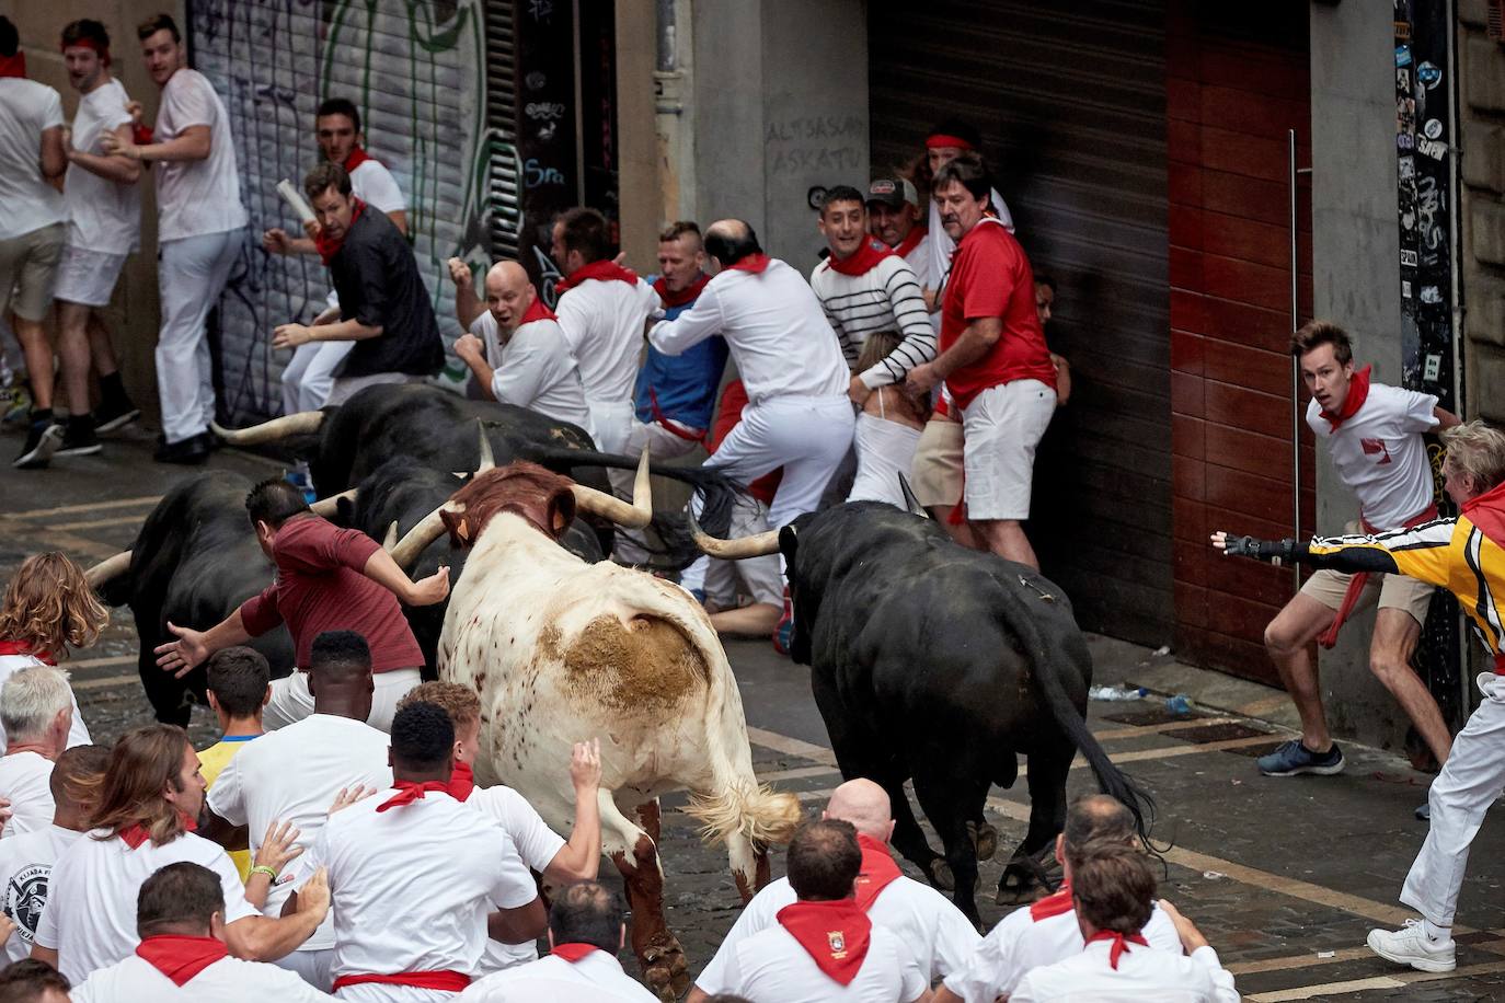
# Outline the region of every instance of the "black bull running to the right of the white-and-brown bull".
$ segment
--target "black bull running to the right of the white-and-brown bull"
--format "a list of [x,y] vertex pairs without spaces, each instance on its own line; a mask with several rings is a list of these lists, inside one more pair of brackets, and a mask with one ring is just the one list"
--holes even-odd
[[[892,800],[894,847],[936,884],[974,902],[977,836],[992,783],[1011,786],[1028,756],[1029,830],[999,880],[1023,892],[1066,823],[1078,749],[1106,794],[1135,814],[1153,801],[1087,729],[1093,680],[1087,641],[1066,594],[1031,568],[953,543],[927,519],[879,502],[807,514],[780,534],[795,605],[792,654],[811,689],[846,779],[868,777]],[[905,795],[945,845],[930,848]]]

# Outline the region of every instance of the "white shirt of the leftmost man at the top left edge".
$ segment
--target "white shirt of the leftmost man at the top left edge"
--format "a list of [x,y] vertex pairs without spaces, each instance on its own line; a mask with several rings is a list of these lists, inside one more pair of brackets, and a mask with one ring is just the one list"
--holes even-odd
[[66,218],[63,194],[42,177],[42,131],[63,125],[63,99],[47,84],[0,77],[0,241]]

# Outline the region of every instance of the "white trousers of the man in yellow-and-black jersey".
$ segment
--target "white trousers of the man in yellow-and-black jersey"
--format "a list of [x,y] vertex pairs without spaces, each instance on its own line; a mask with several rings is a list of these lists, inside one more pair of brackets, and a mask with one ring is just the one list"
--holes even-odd
[[1406,875],[1401,902],[1437,926],[1452,926],[1469,865],[1469,844],[1484,812],[1505,792],[1505,677],[1478,677],[1484,702],[1469,716],[1442,773],[1431,782],[1431,830]]

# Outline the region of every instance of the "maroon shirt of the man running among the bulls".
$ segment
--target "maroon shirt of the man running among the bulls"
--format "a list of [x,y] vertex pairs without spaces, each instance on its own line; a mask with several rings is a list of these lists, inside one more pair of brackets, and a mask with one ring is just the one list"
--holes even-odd
[[307,669],[313,639],[325,630],[354,630],[372,650],[372,671],[415,669],[423,651],[397,597],[363,574],[381,544],[319,516],[293,516],[277,531],[277,580],[241,603],[241,621],[254,638],[287,624],[298,666]]

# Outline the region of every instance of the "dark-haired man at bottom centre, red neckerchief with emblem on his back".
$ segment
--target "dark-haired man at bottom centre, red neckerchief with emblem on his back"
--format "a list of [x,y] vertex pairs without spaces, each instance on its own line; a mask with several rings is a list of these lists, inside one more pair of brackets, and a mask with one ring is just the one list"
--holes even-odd
[[930,998],[909,946],[873,923],[853,899],[862,851],[850,823],[828,818],[804,826],[789,844],[787,860],[799,898],[727,958],[728,992],[752,1003]]

